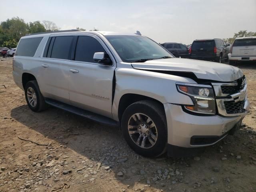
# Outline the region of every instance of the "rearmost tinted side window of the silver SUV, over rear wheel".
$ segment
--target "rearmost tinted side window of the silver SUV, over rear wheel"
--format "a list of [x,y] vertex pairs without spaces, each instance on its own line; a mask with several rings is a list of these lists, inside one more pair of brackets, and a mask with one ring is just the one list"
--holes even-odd
[[16,56],[33,57],[43,37],[21,39],[16,50]]

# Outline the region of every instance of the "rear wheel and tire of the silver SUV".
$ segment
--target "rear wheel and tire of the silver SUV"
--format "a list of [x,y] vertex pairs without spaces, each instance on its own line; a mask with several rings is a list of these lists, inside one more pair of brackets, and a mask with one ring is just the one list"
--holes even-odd
[[28,107],[34,112],[46,109],[46,103],[42,96],[36,80],[27,82],[25,86],[25,97]]

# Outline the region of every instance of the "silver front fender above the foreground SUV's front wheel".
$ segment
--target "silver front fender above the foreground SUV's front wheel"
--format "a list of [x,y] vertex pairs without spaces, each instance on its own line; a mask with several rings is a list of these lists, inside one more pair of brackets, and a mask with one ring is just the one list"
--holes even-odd
[[190,97],[179,93],[176,88],[176,82],[196,83],[190,78],[134,68],[116,68],[115,78],[116,84],[112,104],[114,120],[118,120],[118,105],[124,94],[147,96],[158,100],[162,104],[193,104]]

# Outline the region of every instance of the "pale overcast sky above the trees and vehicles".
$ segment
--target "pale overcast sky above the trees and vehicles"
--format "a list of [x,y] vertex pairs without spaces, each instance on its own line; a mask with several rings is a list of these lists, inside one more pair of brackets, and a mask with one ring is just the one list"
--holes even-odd
[[0,22],[14,16],[50,20],[62,30],[139,30],[161,43],[256,32],[256,0],[12,0],[1,8]]

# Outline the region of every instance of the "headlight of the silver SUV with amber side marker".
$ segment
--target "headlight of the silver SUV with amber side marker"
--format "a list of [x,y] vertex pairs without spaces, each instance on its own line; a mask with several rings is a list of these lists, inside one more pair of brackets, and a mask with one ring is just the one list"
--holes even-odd
[[212,86],[189,83],[176,83],[178,92],[190,96],[194,105],[184,105],[184,108],[197,114],[215,115],[215,98]]

